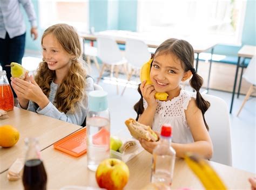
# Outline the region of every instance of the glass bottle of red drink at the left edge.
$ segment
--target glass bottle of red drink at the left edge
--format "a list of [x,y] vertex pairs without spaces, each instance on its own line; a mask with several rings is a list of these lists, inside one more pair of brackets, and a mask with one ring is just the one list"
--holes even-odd
[[14,109],[14,94],[12,94],[5,71],[0,71],[0,109],[5,111]]

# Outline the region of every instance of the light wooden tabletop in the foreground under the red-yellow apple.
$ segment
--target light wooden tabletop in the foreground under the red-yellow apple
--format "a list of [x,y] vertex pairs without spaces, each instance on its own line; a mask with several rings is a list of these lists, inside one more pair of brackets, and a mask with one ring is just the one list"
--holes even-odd
[[[42,151],[42,157],[48,174],[48,189],[60,189],[66,185],[97,187],[95,172],[87,169],[86,154],[75,158],[50,146]],[[150,183],[151,159],[151,154],[143,151],[127,162],[130,178],[124,189],[140,189]],[[211,165],[219,173],[228,189],[250,189],[247,179],[255,174],[212,161]],[[22,180],[8,181],[6,174],[7,172],[0,174],[0,189],[22,189]],[[172,189],[181,187],[204,189],[185,161],[177,158]]]

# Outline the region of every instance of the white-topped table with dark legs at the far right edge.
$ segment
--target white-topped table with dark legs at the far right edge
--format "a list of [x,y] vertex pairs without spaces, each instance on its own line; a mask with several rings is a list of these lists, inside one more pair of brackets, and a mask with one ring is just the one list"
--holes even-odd
[[[235,88],[237,88],[238,70],[240,67],[242,68],[241,75],[240,75],[240,81],[239,81],[239,87],[238,87],[238,97],[239,97],[241,81],[242,81],[242,72],[245,67],[245,65],[244,65],[245,59],[246,58],[251,59],[254,55],[256,55],[256,46],[244,45],[238,51],[237,70],[235,71],[234,87],[233,87],[232,99],[231,99],[231,105],[230,105],[230,114],[232,113],[232,107],[233,107],[233,103],[234,103]],[[244,58],[244,60],[240,61],[241,58]]]

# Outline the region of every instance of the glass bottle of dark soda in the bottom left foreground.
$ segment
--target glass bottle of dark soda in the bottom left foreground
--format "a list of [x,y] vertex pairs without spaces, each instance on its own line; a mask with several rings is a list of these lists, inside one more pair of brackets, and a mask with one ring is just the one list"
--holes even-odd
[[25,139],[27,151],[22,182],[24,190],[46,190],[47,175],[36,138]]

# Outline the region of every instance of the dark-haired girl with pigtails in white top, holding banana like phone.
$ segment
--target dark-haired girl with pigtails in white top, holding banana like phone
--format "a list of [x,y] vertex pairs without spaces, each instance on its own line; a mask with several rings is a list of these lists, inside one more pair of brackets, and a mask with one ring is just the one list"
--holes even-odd
[[[164,123],[172,125],[172,147],[178,157],[194,152],[210,159],[213,147],[204,118],[210,103],[199,93],[203,79],[196,73],[193,62],[193,47],[187,41],[172,38],[160,44],[151,65],[153,84],[145,86],[146,81],[142,82],[138,88],[141,98],[134,110],[138,122],[152,126],[154,131],[160,132]],[[196,98],[180,86],[190,78],[190,85],[197,92]],[[154,98],[156,92],[166,92],[169,96],[166,101],[159,101]],[[140,143],[151,153],[158,144],[145,140]]]

